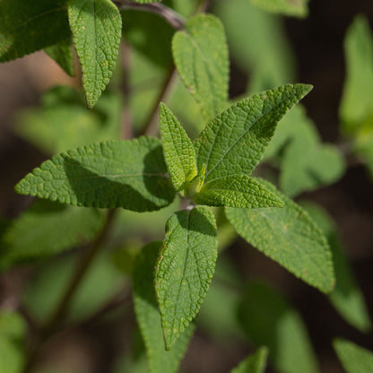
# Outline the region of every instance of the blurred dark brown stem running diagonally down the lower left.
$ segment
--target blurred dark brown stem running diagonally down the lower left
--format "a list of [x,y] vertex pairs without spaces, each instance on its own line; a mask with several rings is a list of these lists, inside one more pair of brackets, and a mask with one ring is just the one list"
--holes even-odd
[[52,313],[46,325],[41,327],[37,341],[34,343],[33,348],[30,350],[28,358],[25,362],[23,373],[29,373],[34,368],[35,362],[39,357],[39,351],[42,345],[48,340],[48,338],[55,334],[56,331],[63,325],[67,312],[71,306],[71,302],[74,299],[74,295],[82,282],[84,274],[87,273],[88,268],[95,256],[99,253],[100,247],[108,237],[108,230],[111,227],[114,219],[116,210],[112,209],[108,211],[107,221],[100,231],[99,236],[91,243],[91,246],[86,250],[82,251],[78,263],[76,264],[73,276],[70,282],[67,284],[65,292],[58,302],[55,311]]

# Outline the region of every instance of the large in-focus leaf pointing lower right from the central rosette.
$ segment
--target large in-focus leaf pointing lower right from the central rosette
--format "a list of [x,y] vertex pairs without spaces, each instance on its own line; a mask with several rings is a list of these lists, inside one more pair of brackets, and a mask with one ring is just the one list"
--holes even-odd
[[298,204],[261,180],[285,203],[285,207],[226,210],[228,220],[248,243],[288,271],[316,287],[334,288],[332,253],[321,232]]

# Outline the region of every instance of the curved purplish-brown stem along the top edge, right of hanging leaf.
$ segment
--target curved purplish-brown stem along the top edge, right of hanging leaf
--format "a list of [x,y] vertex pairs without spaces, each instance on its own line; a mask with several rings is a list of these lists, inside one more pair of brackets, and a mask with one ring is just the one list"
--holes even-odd
[[184,28],[184,18],[164,4],[138,4],[126,0],[114,1],[114,3],[117,4],[119,10],[132,9],[137,11],[155,13],[162,17],[166,22],[169,22],[169,24],[174,29],[182,30]]

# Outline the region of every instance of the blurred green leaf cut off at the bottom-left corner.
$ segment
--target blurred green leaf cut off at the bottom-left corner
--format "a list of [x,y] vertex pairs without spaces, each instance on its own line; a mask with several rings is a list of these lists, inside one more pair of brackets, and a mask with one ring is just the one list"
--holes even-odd
[[19,373],[24,364],[27,326],[21,315],[0,311],[0,372]]

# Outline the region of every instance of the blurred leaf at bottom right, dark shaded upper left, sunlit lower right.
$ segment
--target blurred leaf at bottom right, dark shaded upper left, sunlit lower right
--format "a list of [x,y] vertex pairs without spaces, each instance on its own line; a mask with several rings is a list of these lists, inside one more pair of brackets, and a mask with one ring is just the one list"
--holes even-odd
[[277,291],[262,283],[250,282],[239,305],[238,317],[249,341],[268,347],[269,360],[276,371],[318,371],[303,320]]

